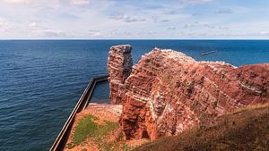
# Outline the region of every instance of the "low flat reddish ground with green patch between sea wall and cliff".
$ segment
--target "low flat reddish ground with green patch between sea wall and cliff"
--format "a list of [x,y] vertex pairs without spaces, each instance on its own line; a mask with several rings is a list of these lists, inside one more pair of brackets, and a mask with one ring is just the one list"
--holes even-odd
[[120,105],[91,105],[77,114],[65,150],[130,150],[118,125],[118,110]]

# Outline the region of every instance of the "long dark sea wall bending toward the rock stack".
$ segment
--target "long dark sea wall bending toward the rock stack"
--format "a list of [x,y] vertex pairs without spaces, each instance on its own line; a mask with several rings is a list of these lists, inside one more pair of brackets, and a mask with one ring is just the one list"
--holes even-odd
[[89,103],[91,102],[91,96],[92,96],[92,93],[96,84],[101,81],[106,81],[106,80],[108,80],[108,75],[93,77],[90,80],[87,88],[85,88],[79,101],[74,106],[73,112],[69,115],[67,121],[65,122],[64,127],[62,128],[57,138],[55,139],[52,147],[50,147],[49,149],[50,151],[64,150],[65,143],[67,141],[72,125],[74,123],[75,114],[80,113],[82,110],[84,110],[87,107],[87,105],[89,105]]

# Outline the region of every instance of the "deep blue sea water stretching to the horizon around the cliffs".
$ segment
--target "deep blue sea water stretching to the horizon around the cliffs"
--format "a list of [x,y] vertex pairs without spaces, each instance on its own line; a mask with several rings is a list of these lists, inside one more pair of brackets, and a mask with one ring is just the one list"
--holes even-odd
[[[119,44],[133,46],[134,63],[155,46],[236,66],[269,62],[269,40],[3,40],[0,150],[48,150],[91,77],[107,73],[109,47]],[[108,84],[93,100],[108,100]]]

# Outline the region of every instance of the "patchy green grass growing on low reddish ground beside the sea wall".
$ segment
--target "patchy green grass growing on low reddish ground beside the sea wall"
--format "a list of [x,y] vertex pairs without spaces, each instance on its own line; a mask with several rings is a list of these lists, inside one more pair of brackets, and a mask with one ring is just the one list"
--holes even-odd
[[[131,149],[131,147],[126,146],[126,142],[123,140],[123,135],[119,135],[117,139],[113,141],[107,140],[107,137],[109,137],[108,135],[114,130],[117,130],[117,122],[105,121],[104,124],[98,124],[95,122],[98,119],[98,117],[91,114],[85,115],[75,126],[72,142],[67,144],[67,148],[72,150],[75,146],[79,146],[87,141],[87,138],[91,138],[94,144],[102,151],[127,151]],[[87,150],[91,149],[82,149],[82,151]]]

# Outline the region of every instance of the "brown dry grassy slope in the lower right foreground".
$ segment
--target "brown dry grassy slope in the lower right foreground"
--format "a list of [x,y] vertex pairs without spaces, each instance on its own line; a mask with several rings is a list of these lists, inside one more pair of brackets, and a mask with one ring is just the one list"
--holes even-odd
[[135,150],[269,150],[269,105],[239,109],[213,126],[160,138]]

